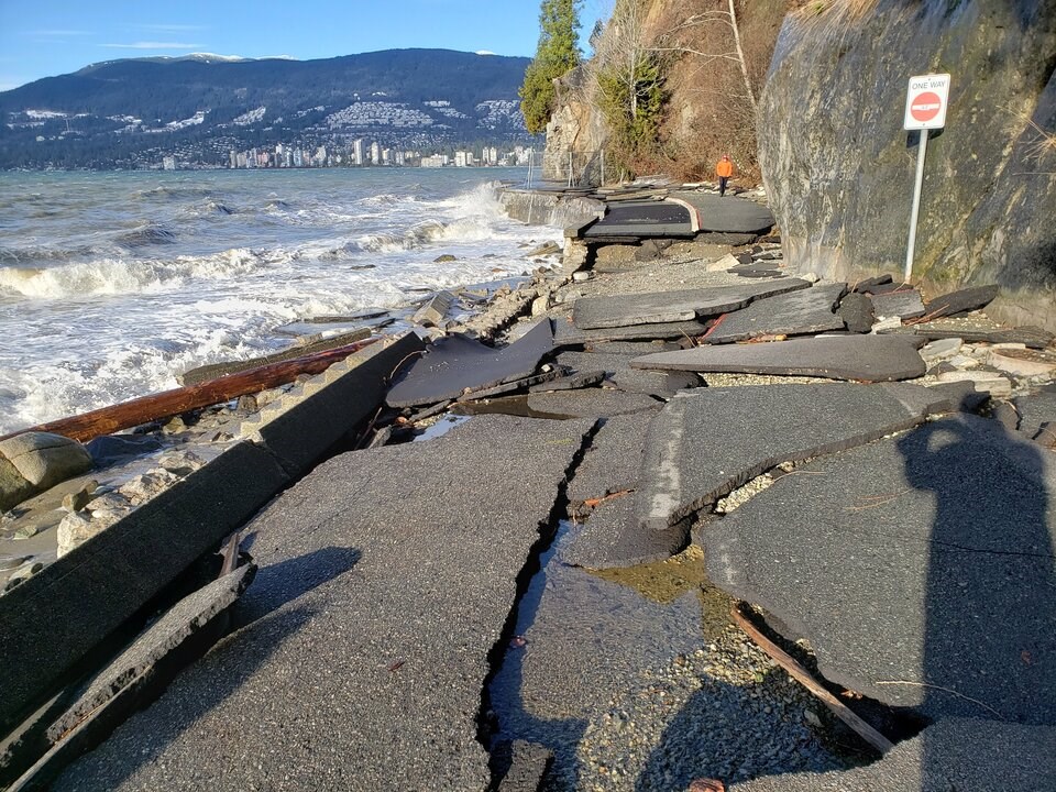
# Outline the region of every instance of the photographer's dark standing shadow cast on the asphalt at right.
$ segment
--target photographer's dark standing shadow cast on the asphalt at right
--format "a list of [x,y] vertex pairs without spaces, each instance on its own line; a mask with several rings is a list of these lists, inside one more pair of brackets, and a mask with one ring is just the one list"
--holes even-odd
[[[1056,468],[1041,447],[975,416],[926,424],[898,447],[908,482],[935,497],[923,663],[903,689],[920,691],[916,708],[930,721],[1056,724]],[[996,730],[980,725],[967,747],[925,732],[923,787],[966,750],[993,750]]]

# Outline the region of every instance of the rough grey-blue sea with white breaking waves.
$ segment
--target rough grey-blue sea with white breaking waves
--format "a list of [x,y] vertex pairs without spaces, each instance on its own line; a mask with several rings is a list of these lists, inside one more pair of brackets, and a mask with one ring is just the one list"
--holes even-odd
[[[289,346],[277,330],[521,275],[524,169],[0,174],[0,433]],[[441,254],[457,261],[436,263]]]

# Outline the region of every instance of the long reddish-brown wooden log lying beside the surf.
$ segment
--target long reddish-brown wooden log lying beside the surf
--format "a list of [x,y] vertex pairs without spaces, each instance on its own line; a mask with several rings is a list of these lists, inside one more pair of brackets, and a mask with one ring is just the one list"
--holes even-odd
[[9,437],[28,431],[46,431],[86,442],[101,435],[110,435],[160,418],[168,418],[200,407],[230,402],[245,394],[260,393],[267,388],[285,385],[302,374],[319,374],[376,340],[367,339],[338,349],[229,374],[198,385],[188,385],[142,396],[130,402],[84,413],[79,416],[59,418],[29,429],[21,429],[0,437],[0,440],[7,440]]

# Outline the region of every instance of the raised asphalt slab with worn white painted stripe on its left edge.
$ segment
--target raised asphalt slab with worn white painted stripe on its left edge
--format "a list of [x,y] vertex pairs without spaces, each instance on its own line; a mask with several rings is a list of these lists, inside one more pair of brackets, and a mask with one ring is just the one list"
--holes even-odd
[[698,388],[649,425],[637,494],[645,530],[667,529],[781,462],[843,451],[953,411],[919,385]]

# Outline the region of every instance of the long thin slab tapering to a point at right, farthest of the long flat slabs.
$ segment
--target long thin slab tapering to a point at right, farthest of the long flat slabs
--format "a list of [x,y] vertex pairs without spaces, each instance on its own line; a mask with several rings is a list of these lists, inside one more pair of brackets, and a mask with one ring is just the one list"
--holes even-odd
[[807,280],[781,278],[763,283],[651,294],[581,297],[572,307],[580,330],[691,321],[744,308],[756,299],[805,289]]

